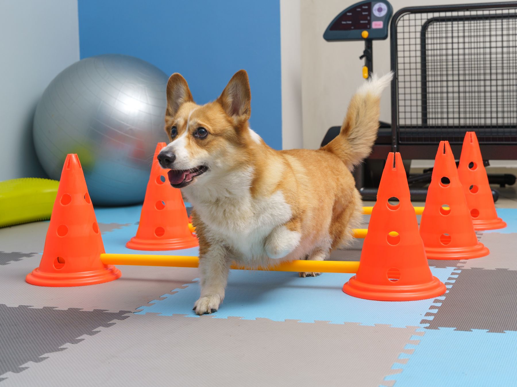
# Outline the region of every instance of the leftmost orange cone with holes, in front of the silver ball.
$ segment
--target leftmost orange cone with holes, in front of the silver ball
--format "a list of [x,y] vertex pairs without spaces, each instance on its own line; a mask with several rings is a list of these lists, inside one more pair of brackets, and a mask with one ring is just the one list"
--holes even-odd
[[39,286],[81,286],[116,280],[104,265],[104,245],[77,154],[66,157],[39,267],[25,280]]

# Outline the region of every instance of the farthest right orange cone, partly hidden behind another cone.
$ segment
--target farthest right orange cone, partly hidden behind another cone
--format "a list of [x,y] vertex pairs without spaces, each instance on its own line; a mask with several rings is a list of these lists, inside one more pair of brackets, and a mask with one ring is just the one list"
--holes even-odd
[[483,158],[475,132],[465,133],[458,174],[472,216],[474,230],[504,229],[506,223],[503,219],[498,218],[495,212],[492,190],[483,166]]

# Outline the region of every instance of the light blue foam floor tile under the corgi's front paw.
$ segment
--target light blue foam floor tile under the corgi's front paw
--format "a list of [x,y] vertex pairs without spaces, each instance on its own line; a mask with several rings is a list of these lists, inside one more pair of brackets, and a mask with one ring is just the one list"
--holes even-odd
[[[446,281],[452,268],[433,268],[433,275]],[[387,324],[394,327],[421,326],[436,298],[420,301],[388,302],[363,300],[342,291],[353,274],[323,273],[318,277],[299,278],[293,272],[232,270],[226,296],[214,318],[239,316],[275,321],[330,321],[332,324],[358,322],[361,325]],[[184,314],[197,317],[192,306],[199,298],[199,282],[163,295],[163,299],[143,305],[137,314],[148,312],[164,316]]]

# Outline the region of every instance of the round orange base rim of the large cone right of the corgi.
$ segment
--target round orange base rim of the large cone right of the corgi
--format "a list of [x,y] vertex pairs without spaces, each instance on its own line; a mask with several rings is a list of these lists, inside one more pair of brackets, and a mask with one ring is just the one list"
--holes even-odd
[[445,294],[445,285],[433,277],[433,279],[420,285],[372,285],[359,282],[356,276],[343,285],[346,294],[375,301],[416,301],[427,300]]

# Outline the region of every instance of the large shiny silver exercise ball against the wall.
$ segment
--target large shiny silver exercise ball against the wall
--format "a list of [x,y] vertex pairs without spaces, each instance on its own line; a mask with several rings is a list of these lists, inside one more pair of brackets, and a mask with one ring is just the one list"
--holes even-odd
[[34,117],[34,144],[43,169],[59,180],[68,153],[81,160],[94,204],[144,200],[163,131],[168,76],[127,55],[74,63],[44,91]]

